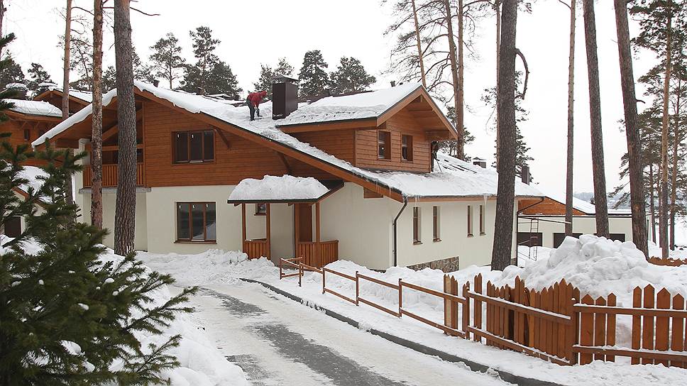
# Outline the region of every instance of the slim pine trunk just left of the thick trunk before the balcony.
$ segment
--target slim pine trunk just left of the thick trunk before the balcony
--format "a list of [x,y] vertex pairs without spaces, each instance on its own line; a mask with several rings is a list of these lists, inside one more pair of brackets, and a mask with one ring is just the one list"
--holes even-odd
[[91,224],[103,228],[103,4],[94,0],[93,7],[93,114],[91,131]]

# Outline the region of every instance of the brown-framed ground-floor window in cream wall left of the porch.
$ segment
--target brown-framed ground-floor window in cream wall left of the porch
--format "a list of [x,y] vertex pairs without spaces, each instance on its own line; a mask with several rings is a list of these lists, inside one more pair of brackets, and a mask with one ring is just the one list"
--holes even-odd
[[216,240],[214,202],[177,202],[177,241],[214,243]]

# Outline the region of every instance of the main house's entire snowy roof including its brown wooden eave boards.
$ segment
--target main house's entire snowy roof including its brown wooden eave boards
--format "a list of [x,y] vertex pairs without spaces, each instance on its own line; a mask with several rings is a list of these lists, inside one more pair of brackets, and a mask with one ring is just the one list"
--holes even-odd
[[[269,118],[249,121],[248,106],[234,107],[227,101],[176,92],[138,81],[134,82],[134,85],[134,92],[144,99],[158,102],[183,114],[189,114],[199,121],[253,140],[266,148],[328,172],[334,177],[354,182],[399,202],[476,199],[496,195],[498,175],[495,170],[472,165],[470,162],[451,158],[448,155],[441,155],[436,160],[434,172],[383,172],[353,166],[350,162],[336,158],[287,133],[287,129],[298,127],[291,126],[289,123],[304,123],[304,113],[307,112],[314,115],[309,118],[308,125],[326,124],[343,117],[339,113],[330,114],[334,110],[350,112],[348,118],[356,116],[356,118],[372,119],[376,122],[387,119],[390,114],[395,114],[403,106],[418,99],[422,99],[422,103],[431,104],[432,111],[440,116],[441,121],[448,122],[443,112],[434,110],[436,103],[432,96],[429,96],[424,87],[419,84],[404,84],[377,92],[324,98],[312,105],[299,106],[292,116],[278,121]],[[116,89],[103,96],[103,106],[110,104],[116,104]],[[270,104],[264,104],[261,107],[263,107],[264,116],[272,115]],[[329,112],[326,112],[327,109]],[[33,141],[33,146],[42,145],[47,139],[62,139],[63,143],[77,143],[80,138],[89,138],[91,125],[87,119],[91,113],[92,106],[86,106]],[[442,130],[455,132],[450,123]],[[517,180],[515,194],[521,198],[542,197],[538,189]]]

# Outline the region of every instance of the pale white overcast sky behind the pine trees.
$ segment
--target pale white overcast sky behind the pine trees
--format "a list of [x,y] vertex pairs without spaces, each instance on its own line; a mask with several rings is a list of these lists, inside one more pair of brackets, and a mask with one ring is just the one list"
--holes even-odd
[[[92,1],[74,0],[75,5],[92,7]],[[4,33],[17,40],[10,51],[26,72],[31,62],[43,65],[53,80],[61,82],[62,53],[57,48],[64,21],[59,15],[63,0],[5,0]],[[111,1],[110,1],[111,4]],[[209,26],[221,40],[217,55],[231,65],[244,92],[258,79],[260,63],[275,65],[286,57],[296,68],[307,50],[319,49],[334,70],[341,56],[353,56],[378,78],[375,88],[388,87],[393,75],[385,74],[393,40],[383,35],[392,20],[390,9],[378,0],[261,0],[261,1],[177,1],[141,0],[136,7],[160,16],[132,15],[133,43],[146,60],[155,40],[172,32],[180,39],[184,54],[192,58],[188,31]],[[568,82],[569,12],[557,0],[539,0],[532,13],[520,13],[517,47],[527,56],[529,88],[523,106],[529,120],[522,134],[532,148],[532,175],[546,189],[565,190],[566,124]],[[75,11],[78,12],[78,11]],[[620,156],[627,151],[625,133],[620,131],[622,95],[617,57],[615,16],[612,1],[597,1],[601,112],[608,190],[618,184]],[[466,126],[476,136],[466,148],[469,155],[493,159],[495,133],[488,122],[492,111],[483,105],[483,89],[495,84],[494,18],[480,24],[476,36],[478,57],[466,59]],[[636,26],[632,24],[631,33]],[[593,190],[586,54],[583,17],[578,10],[575,94],[575,182],[576,192]],[[105,38],[105,66],[114,64],[111,33]],[[654,64],[643,53],[634,62],[635,77]],[[642,87],[638,85],[638,94]],[[642,105],[639,105],[642,109]]]

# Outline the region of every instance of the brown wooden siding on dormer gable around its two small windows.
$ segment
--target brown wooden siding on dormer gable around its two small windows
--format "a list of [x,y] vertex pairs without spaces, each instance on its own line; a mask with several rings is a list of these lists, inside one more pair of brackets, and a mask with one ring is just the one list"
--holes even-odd
[[[391,158],[388,160],[380,159],[377,156],[378,130],[391,133]],[[401,160],[401,138],[403,135],[412,136],[412,161]],[[356,131],[355,165],[358,167],[429,172],[429,158],[427,135],[407,109],[399,111],[378,129]]]

